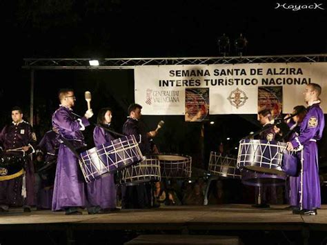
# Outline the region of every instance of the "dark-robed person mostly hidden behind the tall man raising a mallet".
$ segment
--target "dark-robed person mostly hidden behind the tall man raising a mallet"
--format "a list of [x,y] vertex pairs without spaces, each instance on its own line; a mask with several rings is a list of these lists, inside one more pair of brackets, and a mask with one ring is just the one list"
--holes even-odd
[[[59,141],[54,128],[43,135],[36,148],[37,173],[39,176],[39,188],[37,190],[37,208],[51,209],[54,176],[57,166]],[[41,166],[43,163],[43,166]],[[40,165],[40,166],[38,166]]]

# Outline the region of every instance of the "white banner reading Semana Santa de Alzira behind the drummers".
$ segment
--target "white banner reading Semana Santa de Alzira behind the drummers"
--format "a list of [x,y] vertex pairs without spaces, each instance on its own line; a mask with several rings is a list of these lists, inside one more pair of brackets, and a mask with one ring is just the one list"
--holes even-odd
[[[135,67],[135,103],[143,115],[184,115],[185,89],[209,88],[210,114],[257,114],[258,88],[282,86],[283,113],[305,105],[306,84],[322,87],[327,112],[327,63],[246,63]],[[325,96],[324,96],[325,95]]]

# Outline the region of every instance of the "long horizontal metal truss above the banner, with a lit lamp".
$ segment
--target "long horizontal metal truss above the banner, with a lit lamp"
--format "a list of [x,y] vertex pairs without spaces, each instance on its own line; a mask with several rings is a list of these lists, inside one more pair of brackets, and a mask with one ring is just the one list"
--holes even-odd
[[234,63],[299,63],[327,62],[327,54],[275,55],[243,57],[181,57],[181,58],[115,58],[98,59],[99,66],[90,66],[91,59],[23,59],[24,69],[74,70],[74,69],[134,69],[135,66],[212,65]]

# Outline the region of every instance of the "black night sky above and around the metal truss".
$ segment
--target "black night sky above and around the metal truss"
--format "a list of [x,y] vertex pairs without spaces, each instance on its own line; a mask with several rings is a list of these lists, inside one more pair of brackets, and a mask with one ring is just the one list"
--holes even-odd
[[[288,9],[275,9],[278,2],[286,3]],[[295,4],[309,6],[312,3],[2,1],[0,101],[3,109],[0,128],[10,121],[12,106],[28,108],[30,103],[30,75],[21,69],[23,58],[217,57],[221,55],[217,40],[224,33],[230,38],[230,56],[237,55],[233,43],[240,34],[248,40],[243,55],[326,53],[327,14],[326,10],[319,9],[327,9],[326,3],[316,9],[294,11],[291,5]],[[43,106],[49,110],[55,108],[59,86],[78,90],[76,79],[83,75],[70,74],[66,79],[63,75],[59,72],[37,75],[36,107],[42,106],[44,97],[47,97],[51,102],[47,101]],[[132,79],[132,71],[113,76]],[[50,90],[46,89],[47,86]],[[132,102],[134,95],[130,92],[127,95],[125,102]],[[117,104],[119,110],[124,107],[115,101],[115,96],[108,99]],[[125,116],[124,112],[118,114],[121,118]]]

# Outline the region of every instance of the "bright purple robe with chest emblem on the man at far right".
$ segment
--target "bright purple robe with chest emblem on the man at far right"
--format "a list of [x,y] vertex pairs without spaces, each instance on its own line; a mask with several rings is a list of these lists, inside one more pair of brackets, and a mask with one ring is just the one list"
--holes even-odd
[[[308,107],[308,113],[301,123],[299,136],[292,139],[294,148],[303,148],[301,158],[303,159],[303,169],[299,177],[296,177],[297,194],[302,191],[302,208],[320,208],[320,182],[318,168],[317,140],[321,139],[324,130],[324,112],[318,103]],[[301,175],[303,182],[301,183]],[[300,206],[299,194],[296,198],[296,206]]]

